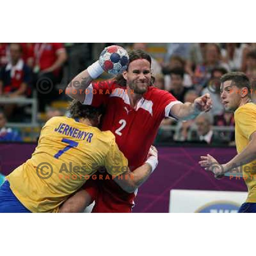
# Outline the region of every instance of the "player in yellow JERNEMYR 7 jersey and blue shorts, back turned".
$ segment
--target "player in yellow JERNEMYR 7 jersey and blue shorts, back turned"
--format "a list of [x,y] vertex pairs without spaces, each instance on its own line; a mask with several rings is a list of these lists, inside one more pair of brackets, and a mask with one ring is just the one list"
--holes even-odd
[[6,177],[0,187],[0,212],[58,212],[101,166],[131,193],[157,166],[152,147],[148,160],[131,174],[115,136],[96,127],[100,109],[74,100],[69,111],[71,117],[49,119],[32,157]]

